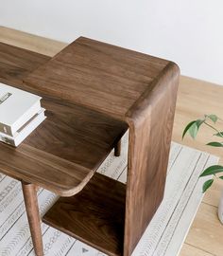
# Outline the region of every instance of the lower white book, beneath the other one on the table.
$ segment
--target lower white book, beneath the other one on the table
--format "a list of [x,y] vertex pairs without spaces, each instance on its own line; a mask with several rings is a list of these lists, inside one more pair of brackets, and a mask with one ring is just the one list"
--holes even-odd
[[17,147],[21,144],[26,137],[28,137],[42,122],[46,119],[44,115],[45,109],[34,115],[34,117],[26,122],[26,124],[15,133],[14,137],[10,137],[4,133],[0,133],[0,141],[7,143],[11,146]]

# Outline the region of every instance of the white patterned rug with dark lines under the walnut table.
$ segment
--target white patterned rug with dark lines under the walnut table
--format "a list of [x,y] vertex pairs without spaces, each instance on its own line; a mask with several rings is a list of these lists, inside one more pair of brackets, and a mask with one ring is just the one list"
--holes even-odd
[[[128,134],[122,140],[122,155],[107,157],[98,172],[126,182]],[[202,199],[201,171],[218,158],[172,143],[163,203],[155,214],[132,256],[176,256]],[[52,192],[38,192],[43,214],[57,200]],[[105,255],[72,237],[42,224],[44,255]],[[20,182],[0,174],[0,255],[35,255]]]

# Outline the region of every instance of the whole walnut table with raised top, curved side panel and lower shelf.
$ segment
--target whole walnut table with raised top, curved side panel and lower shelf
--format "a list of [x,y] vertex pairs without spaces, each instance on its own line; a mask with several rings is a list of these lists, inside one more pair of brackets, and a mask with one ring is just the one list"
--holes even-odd
[[[0,81],[43,97],[47,119],[0,171],[22,181],[37,255],[35,186],[60,194],[43,221],[109,255],[129,256],[163,199],[179,68],[78,38],[54,58],[0,44]],[[128,181],[95,174],[129,129]]]

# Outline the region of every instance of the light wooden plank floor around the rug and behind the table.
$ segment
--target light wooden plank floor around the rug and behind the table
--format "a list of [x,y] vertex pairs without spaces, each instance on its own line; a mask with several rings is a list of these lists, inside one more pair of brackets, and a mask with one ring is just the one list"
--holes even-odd
[[[0,42],[24,47],[48,56],[55,55],[67,45],[6,27],[0,27]],[[203,114],[216,114],[223,119],[222,110],[223,86],[182,76],[180,78],[173,140],[219,155],[220,163],[223,164],[223,150],[205,146],[205,143],[211,138],[212,131],[210,129],[203,129],[196,141],[189,137],[181,141],[183,127],[191,119],[197,119]],[[204,196],[180,256],[223,255],[223,225],[219,223],[216,215],[221,191],[223,192],[223,182],[215,182],[214,187]]]

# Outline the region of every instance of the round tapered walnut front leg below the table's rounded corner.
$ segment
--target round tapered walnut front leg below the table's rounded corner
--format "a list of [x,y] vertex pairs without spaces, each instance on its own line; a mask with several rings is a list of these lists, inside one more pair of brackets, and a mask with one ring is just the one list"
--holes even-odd
[[41,217],[38,207],[36,186],[22,182],[26,214],[36,256],[43,256]]

